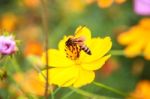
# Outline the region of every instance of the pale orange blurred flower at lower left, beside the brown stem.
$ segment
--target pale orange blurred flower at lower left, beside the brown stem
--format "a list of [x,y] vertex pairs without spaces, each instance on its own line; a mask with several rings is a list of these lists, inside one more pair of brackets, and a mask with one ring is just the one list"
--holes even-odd
[[24,92],[38,96],[44,95],[45,83],[39,79],[36,71],[30,70],[25,74],[16,73],[13,77]]

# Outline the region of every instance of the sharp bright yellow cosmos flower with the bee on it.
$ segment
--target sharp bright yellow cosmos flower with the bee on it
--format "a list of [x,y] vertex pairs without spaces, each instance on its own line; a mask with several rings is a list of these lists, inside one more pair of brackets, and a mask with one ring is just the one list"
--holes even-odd
[[[74,47],[72,52],[65,51],[66,41],[70,37],[72,36],[65,36],[59,42],[58,49],[48,50],[48,65],[51,66],[51,69],[49,69],[49,83],[61,87],[81,87],[94,80],[94,70],[101,68],[110,57],[110,54],[106,55],[106,53],[110,50],[112,42],[110,37],[91,38],[91,32],[87,27],[78,27],[75,31],[74,38],[85,38],[84,44],[91,51],[91,55],[88,55],[83,50],[79,51],[75,49],[78,47]],[[43,54],[42,61],[44,64],[45,60],[45,54]],[[42,73],[45,75],[46,70],[42,71]],[[40,75],[40,78],[44,80],[42,75]]]

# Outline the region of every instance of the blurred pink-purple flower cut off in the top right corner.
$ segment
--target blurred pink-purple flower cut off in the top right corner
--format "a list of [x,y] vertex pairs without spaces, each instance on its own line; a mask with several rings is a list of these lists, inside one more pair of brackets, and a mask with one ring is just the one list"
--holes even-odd
[[150,15],[150,0],[134,0],[134,11],[139,15]]

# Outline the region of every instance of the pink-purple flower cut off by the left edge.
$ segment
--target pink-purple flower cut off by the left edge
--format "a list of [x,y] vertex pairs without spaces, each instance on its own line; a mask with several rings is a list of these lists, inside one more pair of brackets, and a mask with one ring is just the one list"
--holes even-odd
[[0,54],[9,55],[17,51],[13,36],[0,36]]

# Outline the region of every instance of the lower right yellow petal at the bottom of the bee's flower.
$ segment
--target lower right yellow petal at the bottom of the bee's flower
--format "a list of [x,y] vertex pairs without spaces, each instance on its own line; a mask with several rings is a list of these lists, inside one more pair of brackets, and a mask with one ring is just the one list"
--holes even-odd
[[80,68],[79,77],[73,83],[73,87],[78,88],[86,84],[89,84],[94,80],[94,78],[95,78],[95,73],[93,71],[87,71]]

